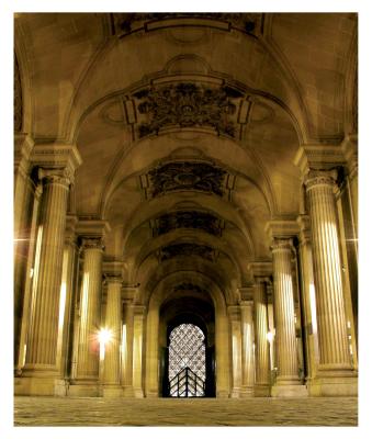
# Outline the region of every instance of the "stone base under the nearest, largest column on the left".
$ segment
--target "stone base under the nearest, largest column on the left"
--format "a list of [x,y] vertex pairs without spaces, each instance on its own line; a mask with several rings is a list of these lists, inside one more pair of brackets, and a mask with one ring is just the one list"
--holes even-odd
[[68,384],[65,380],[48,376],[22,376],[14,379],[16,396],[66,396]]

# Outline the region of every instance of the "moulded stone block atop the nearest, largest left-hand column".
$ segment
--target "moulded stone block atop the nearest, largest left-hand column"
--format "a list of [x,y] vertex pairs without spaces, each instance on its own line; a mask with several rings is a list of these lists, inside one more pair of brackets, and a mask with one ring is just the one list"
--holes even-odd
[[36,144],[31,154],[33,166],[46,169],[66,168],[71,179],[82,159],[76,145],[72,144]]

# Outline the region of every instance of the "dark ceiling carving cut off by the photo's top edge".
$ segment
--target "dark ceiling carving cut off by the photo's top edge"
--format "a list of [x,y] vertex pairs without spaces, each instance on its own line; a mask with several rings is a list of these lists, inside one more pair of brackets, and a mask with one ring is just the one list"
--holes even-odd
[[228,23],[230,27],[246,33],[260,33],[261,13],[228,13],[228,12],[147,12],[147,13],[112,13],[112,30],[119,37],[140,29],[146,22],[172,19],[204,19]]

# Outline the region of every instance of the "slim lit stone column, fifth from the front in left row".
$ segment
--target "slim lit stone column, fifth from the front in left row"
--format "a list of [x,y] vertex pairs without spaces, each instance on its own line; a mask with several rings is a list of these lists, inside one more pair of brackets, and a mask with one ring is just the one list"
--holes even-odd
[[145,313],[145,306],[136,305],[133,307],[133,391],[135,397],[144,397],[143,352]]

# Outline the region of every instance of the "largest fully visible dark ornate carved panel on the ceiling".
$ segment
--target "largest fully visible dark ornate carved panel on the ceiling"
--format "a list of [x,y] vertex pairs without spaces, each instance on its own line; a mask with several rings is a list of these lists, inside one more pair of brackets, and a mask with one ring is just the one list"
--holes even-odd
[[139,137],[158,134],[160,128],[171,126],[206,126],[218,135],[235,137],[233,116],[237,105],[232,99],[243,94],[230,87],[171,83],[142,90],[134,97],[142,100],[139,114],[147,116],[147,121],[138,126]]

